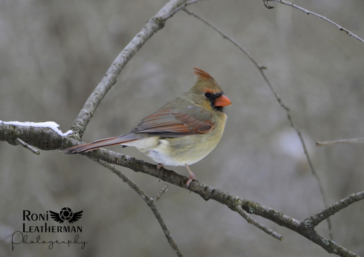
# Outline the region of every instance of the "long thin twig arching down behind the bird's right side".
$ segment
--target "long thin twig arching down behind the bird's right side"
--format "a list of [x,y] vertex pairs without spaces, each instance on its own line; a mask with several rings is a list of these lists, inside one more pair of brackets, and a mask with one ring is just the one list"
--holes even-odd
[[[205,19],[202,19],[200,16],[198,16],[197,14],[193,13],[193,12],[190,12],[190,11],[187,11],[186,9],[183,9],[183,11],[185,11],[186,13],[188,13],[189,15],[201,20],[203,23],[207,24],[208,26],[210,26],[211,28],[213,28],[215,31],[217,31],[221,36],[222,38],[224,39],[227,39],[229,40],[231,43],[233,43],[236,47],[238,47],[242,52],[244,52],[244,54],[246,54],[248,56],[248,58],[250,59],[250,61],[252,61],[254,63],[254,65],[257,67],[257,69],[260,71],[260,74],[262,75],[262,77],[264,78],[265,82],[267,83],[267,85],[269,86],[270,90],[273,92],[274,96],[276,97],[279,105],[286,111],[286,114],[287,114],[287,118],[288,118],[288,121],[291,125],[291,127],[296,131],[297,135],[298,135],[298,138],[300,139],[301,141],[301,145],[302,145],[302,148],[303,148],[303,151],[306,155],[306,159],[308,161],[308,164],[310,166],[310,169],[311,169],[311,172],[312,174],[314,175],[314,177],[316,178],[316,181],[317,181],[317,185],[318,185],[318,188],[320,189],[321,191],[321,195],[323,197],[323,202],[324,202],[324,205],[325,207],[327,207],[327,201],[326,201],[326,195],[325,195],[325,192],[324,192],[324,187],[321,183],[321,180],[320,180],[320,177],[318,176],[318,174],[316,173],[316,171],[314,170],[313,168],[313,164],[312,164],[312,161],[311,161],[311,158],[308,154],[308,150],[307,150],[307,147],[306,147],[306,144],[305,144],[305,141],[303,140],[303,137],[301,135],[301,131],[293,124],[293,120],[292,120],[292,116],[289,112],[289,109],[285,106],[285,104],[282,102],[281,98],[278,96],[277,92],[273,89],[273,85],[272,83],[270,83],[270,81],[268,80],[268,78],[266,77],[265,73],[264,73],[264,70],[266,69],[266,67],[264,66],[261,66],[258,64],[258,62],[252,57],[252,55],[248,52],[248,50],[246,50],[244,47],[240,46],[240,44],[238,44],[234,39],[230,38],[229,36],[227,36],[226,34],[224,34],[221,30],[219,30],[217,27],[215,27],[213,24],[211,24],[210,22],[207,22]],[[327,219],[327,223],[328,223],[328,230],[329,230],[329,236],[330,236],[330,239],[332,239],[332,232],[331,232],[331,221],[330,219]]]

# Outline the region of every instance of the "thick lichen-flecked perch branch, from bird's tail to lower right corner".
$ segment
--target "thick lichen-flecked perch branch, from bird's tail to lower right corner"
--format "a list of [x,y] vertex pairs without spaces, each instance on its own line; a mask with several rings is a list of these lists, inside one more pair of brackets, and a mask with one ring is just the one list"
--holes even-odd
[[[137,160],[133,157],[122,155],[120,153],[108,151],[106,149],[98,149],[93,152],[86,153],[87,156],[93,156],[100,158],[109,163],[118,164],[123,167],[131,168],[135,172],[143,172],[155,176],[156,178],[162,179],[171,184],[175,184],[179,187],[185,188],[187,177],[179,175],[171,170],[161,168],[157,170],[156,165],[146,163],[142,160]],[[205,200],[215,200],[223,205],[226,205],[231,210],[241,213],[241,209],[247,213],[256,214],[263,218],[269,219],[280,226],[287,227],[298,234],[303,235],[308,240],[320,245],[328,253],[335,253],[339,256],[357,256],[355,253],[348,249],[340,246],[336,242],[329,240],[314,231],[314,226],[308,220],[298,221],[292,217],[289,217],[279,211],[272,208],[261,205],[257,202],[240,198],[213,187],[202,184],[199,181],[192,181],[189,188],[190,191],[200,195]],[[273,234],[272,234],[273,235]]]

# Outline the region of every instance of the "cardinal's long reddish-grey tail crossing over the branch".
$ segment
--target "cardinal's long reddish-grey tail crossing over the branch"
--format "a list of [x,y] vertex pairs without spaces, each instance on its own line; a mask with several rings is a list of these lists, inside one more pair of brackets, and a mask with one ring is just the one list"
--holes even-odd
[[82,145],[76,145],[74,147],[70,147],[67,149],[64,149],[63,151],[66,151],[66,154],[74,154],[74,153],[87,153],[91,150],[100,148],[100,147],[106,147],[110,145],[118,145],[134,140],[141,139],[141,137],[138,134],[135,133],[127,133],[118,137],[109,137],[105,139],[100,139],[92,143],[82,144]]

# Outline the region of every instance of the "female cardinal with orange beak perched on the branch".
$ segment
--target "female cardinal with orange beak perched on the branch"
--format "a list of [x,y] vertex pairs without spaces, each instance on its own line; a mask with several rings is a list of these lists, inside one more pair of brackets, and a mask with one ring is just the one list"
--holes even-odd
[[224,107],[232,105],[222,87],[210,74],[193,67],[197,75],[194,85],[142,119],[130,132],[118,137],[100,139],[64,149],[66,154],[86,153],[110,145],[136,147],[157,163],[186,166],[188,189],[197,180],[189,165],[208,155],[219,143],[224,131]]

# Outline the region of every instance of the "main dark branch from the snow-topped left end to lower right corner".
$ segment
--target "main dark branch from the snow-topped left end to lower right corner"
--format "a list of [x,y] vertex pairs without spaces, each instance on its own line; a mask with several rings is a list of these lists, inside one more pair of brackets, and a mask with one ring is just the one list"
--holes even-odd
[[[3,123],[0,124],[0,141],[7,141],[12,144],[16,142],[15,140],[17,137],[24,141],[27,141],[28,144],[36,145],[37,148],[44,150],[64,149],[69,147],[70,145],[82,144],[82,142],[69,139],[68,137],[60,136],[56,132],[48,128],[33,128]],[[135,172],[143,172],[145,174],[149,174],[156,178],[162,179],[163,181],[170,184],[175,184],[181,188],[186,189],[186,182],[188,179],[187,177],[179,175],[174,171],[166,170],[165,168],[160,168],[159,170],[157,170],[155,164],[147,163],[142,160],[137,160],[134,157],[122,155],[121,153],[116,153],[102,148],[85,153],[84,155],[91,159],[93,158],[94,160],[103,160],[110,164],[117,164],[123,167],[127,167]],[[280,226],[287,227],[288,229],[291,229],[298,234],[301,234],[304,237],[308,238],[315,244],[320,245],[329,253],[335,253],[339,256],[357,256],[355,253],[352,253],[348,249],[338,245],[336,242],[333,242],[332,240],[329,240],[317,234],[316,231],[314,231],[314,226],[316,226],[315,224],[317,223],[317,221],[315,221],[314,219],[308,218],[304,219],[303,221],[299,221],[272,208],[260,205],[259,203],[251,200],[240,198],[239,196],[231,195],[227,192],[223,192],[208,185],[202,184],[199,181],[192,181],[189,186],[189,190],[200,195],[205,200],[212,199],[219,203],[222,203],[223,205],[229,207],[229,209],[236,211],[239,214],[241,213],[242,209],[249,214],[255,214],[264,217],[266,219],[269,219],[270,221],[273,221],[274,223],[277,223]],[[357,193],[355,196],[348,196],[349,200],[345,200],[346,198],[344,200],[345,204],[349,205],[350,203],[354,201],[359,201],[363,198],[363,192],[360,192]],[[340,203],[335,203],[333,205],[335,206],[335,210],[337,211],[339,211],[340,208],[343,209],[344,207],[346,207],[338,207],[338,205],[340,205]],[[331,210],[332,209],[330,209],[330,211]],[[321,212],[327,213],[328,210],[324,209]],[[329,216],[330,215],[328,215],[328,217]]]

